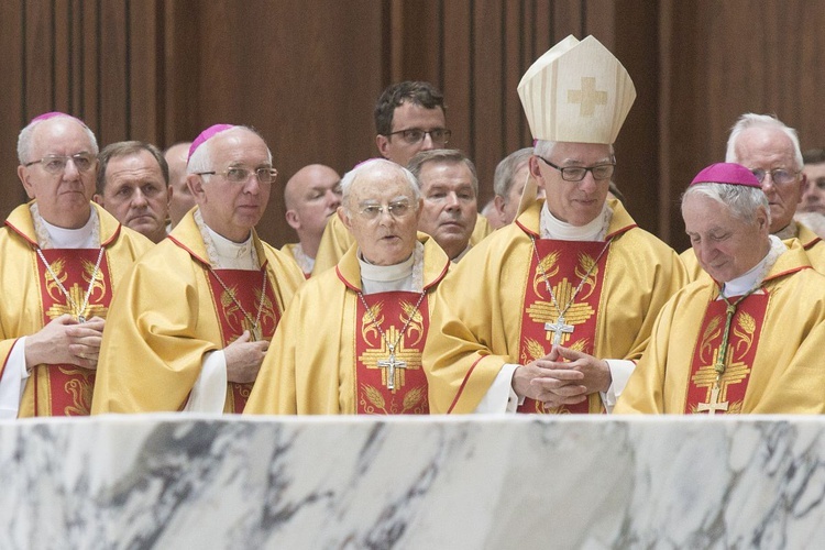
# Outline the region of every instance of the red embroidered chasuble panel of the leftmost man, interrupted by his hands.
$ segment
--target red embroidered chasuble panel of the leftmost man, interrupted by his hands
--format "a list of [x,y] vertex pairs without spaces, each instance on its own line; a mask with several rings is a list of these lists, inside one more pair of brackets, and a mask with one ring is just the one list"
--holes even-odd
[[[86,293],[91,287],[86,309],[76,311],[76,307],[63,294],[46,266],[35,256],[43,306],[43,326],[45,327],[64,314],[69,314],[75,318],[82,315],[86,319],[92,317],[106,319],[112,299],[111,277],[106,254],[96,273],[95,265],[100,249],[50,249],[41,252],[77,307],[82,306]],[[32,378],[34,416],[89,415],[91,394],[95,388],[95,371],[69,364],[37,365],[32,370]]]

